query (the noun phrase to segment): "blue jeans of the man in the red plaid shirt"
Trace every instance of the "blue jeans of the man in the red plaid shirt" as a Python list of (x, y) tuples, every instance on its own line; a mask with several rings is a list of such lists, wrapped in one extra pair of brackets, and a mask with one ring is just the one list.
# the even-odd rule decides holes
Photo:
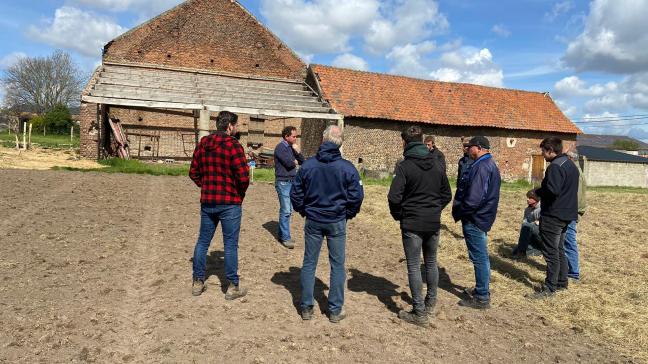
[(225, 277), (238, 286), (238, 238), (241, 230), (241, 205), (200, 205), (200, 234), (194, 249), (193, 279), (205, 280), (207, 251), (220, 221), (225, 250)]

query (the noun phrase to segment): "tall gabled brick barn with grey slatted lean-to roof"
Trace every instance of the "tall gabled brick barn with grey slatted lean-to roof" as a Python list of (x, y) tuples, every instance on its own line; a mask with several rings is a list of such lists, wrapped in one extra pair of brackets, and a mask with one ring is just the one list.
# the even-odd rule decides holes
[(81, 97), (81, 155), (115, 155), (111, 130), (119, 124), (133, 158), (190, 159), (221, 110), (239, 115), (243, 145), (274, 148), (281, 129), (294, 125), (304, 145), (316, 146), (321, 134), (303, 130), (304, 120), (326, 125), (340, 116), (306, 74), (236, 1), (186, 1), (105, 45)]

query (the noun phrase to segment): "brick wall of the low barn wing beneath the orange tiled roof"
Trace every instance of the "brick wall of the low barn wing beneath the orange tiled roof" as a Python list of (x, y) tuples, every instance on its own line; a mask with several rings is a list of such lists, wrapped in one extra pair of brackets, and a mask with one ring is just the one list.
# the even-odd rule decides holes
[[(369, 174), (384, 175), (380, 171), (392, 172), (396, 162), (402, 158), (401, 131), (410, 123), (345, 118), (344, 157), (358, 169)], [(486, 136), (491, 143), (502, 178), (505, 180), (528, 179), (531, 173), (531, 156), (540, 154), (542, 139), (551, 134), (533, 131), (515, 131), (494, 128), (448, 127), (418, 124), (426, 135), (435, 137), (435, 144), (446, 156), (448, 176), (457, 175), (457, 161), (462, 156), (462, 136)], [(576, 135), (556, 135), (565, 141), (566, 148), (575, 148)], [(362, 158), (362, 164), (359, 163)]]

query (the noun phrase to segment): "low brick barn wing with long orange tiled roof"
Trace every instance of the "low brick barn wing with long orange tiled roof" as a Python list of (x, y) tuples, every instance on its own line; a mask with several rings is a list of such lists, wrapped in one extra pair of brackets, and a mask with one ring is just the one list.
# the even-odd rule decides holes
[[(317, 89), (344, 115), (344, 155), (369, 174), (392, 171), (402, 155), (400, 132), (415, 123), (445, 154), (456, 176), (461, 137), (485, 135), (506, 180), (542, 179), (542, 139), (575, 148), (581, 131), (548, 93), (421, 80), (322, 65), (309, 68)], [(362, 163), (360, 163), (362, 161)]]

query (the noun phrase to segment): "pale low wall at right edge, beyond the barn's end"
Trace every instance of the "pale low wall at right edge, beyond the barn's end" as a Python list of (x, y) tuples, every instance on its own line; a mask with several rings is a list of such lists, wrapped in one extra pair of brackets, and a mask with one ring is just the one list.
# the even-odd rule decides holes
[(648, 163), (586, 161), (583, 169), (588, 186), (648, 188)]

